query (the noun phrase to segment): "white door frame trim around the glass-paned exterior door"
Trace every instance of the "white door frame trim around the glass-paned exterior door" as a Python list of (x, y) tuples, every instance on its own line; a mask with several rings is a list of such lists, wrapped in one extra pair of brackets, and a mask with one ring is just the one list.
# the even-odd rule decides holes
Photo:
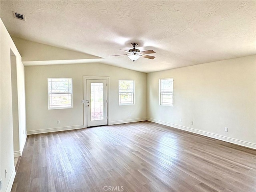
[[(87, 94), (86, 94), (86, 91), (87, 91), (87, 83), (86, 81), (88, 79), (92, 79), (92, 80), (107, 80), (107, 122), (108, 122), (108, 125), (110, 124), (110, 121), (109, 121), (109, 107), (108, 107), (108, 99), (109, 99), (109, 80), (110, 80), (110, 77), (107, 77), (107, 76), (83, 76), (83, 89), (84, 89), (84, 96), (83, 96), (83, 100), (86, 101), (88, 100), (87, 99)], [(87, 113), (88, 113), (88, 110), (87, 110), (87, 107), (86, 107), (86, 102), (83, 103), (84, 104), (84, 128), (87, 128)]]

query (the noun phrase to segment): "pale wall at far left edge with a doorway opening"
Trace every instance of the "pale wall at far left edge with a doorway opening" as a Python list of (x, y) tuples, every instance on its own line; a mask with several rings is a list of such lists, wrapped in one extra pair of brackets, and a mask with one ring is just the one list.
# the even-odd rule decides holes
[[(24, 134), (19, 136), (20, 145), (24, 146), (26, 140), (25, 124), (25, 90), (24, 90), (24, 66), (21, 56), (8, 34), (2, 20), (0, 20), (0, 179), (2, 178), (2, 191), (10, 190), (15, 176), (14, 170), (14, 140), (12, 125), (12, 82), (11, 82), (11, 51), (16, 55), (17, 68), (17, 97), (18, 99), (18, 123), (19, 131)], [(22, 70), (23, 69), (23, 70)], [(16, 130), (17, 132), (17, 130)], [(21, 143), (23, 142), (23, 143)], [(17, 149), (18, 149), (17, 148)], [(5, 170), (7, 172), (5, 178)]]

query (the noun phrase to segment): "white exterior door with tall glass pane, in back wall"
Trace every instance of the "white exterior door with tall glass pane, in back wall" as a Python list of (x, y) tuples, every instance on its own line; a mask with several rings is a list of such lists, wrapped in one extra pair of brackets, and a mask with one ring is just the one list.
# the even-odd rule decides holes
[(87, 126), (107, 125), (107, 80), (86, 80)]

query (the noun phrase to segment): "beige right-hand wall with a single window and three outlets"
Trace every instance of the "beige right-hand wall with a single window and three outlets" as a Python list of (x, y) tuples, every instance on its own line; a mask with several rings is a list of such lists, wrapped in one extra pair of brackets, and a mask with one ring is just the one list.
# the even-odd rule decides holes
[[(159, 105), (160, 78), (174, 78), (173, 107)], [(255, 89), (255, 55), (149, 73), (148, 118), (255, 147)], [(224, 132), (225, 127), (228, 132)]]

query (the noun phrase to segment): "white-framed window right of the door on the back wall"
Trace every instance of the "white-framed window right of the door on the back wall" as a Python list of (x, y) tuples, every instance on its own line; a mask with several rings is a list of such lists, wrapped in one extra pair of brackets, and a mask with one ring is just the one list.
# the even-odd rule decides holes
[(134, 80), (119, 80), (119, 105), (134, 104)]

